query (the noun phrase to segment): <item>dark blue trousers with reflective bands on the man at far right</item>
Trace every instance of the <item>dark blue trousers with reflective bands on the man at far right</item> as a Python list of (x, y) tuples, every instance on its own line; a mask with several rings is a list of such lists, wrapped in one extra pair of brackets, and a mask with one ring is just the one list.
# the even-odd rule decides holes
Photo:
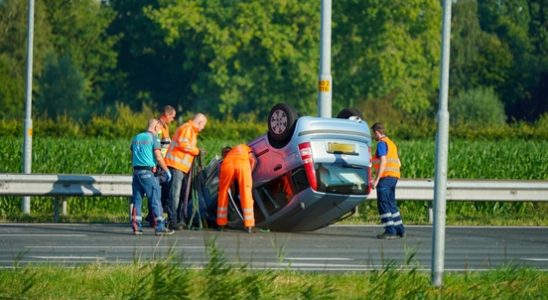
[(398, 179), (395, 177), (382, 177), (377, 185), (377, 208), (381, 217), (381, 223), (384, 226), (384, 232), (387, 234), (405, 233), (403, 222), (400, 215), (398, 204), (396, 203), (396, 184)]

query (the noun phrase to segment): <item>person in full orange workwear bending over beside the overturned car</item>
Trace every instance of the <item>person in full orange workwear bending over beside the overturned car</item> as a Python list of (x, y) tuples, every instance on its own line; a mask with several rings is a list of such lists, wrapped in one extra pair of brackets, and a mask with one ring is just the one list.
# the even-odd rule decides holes
[(240, 192), (240, 203), (244, 217), (244, 226), (251, 233), (255, 227), (253, 215), (253, 181), (251, 172), (255, 167), (253, 150), (244, 144), (231, 149), (223, 149), (223, 162), (219, 171), (219, 196), (217, 198), (217, 225), (225, 228), (228, 223), (228, 189), (237, 181)]

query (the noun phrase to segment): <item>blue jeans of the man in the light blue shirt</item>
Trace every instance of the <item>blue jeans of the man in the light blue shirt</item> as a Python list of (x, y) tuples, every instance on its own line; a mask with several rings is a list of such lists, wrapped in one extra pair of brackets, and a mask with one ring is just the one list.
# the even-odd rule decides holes
[(164, 218), (162, 214), (162, 203), (160, 202), (160, 184), (151, 170), (135, 170), (133, 171), (133, 181), (131, 183), (132, 196), (131, 203), (133, 209), (131, 211), (131, 227), (134, 231), (142, 229), (142, 206), (143, 197), (146, 195), (151, 204), (152, 216), (154, 218), (154, 227), (156, 231), (164, 230)]

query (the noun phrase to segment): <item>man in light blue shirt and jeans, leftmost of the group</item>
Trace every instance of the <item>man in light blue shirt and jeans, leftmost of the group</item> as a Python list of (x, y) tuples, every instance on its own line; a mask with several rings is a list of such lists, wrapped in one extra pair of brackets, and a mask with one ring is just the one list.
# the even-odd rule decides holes
[(166, 171), (168, 181), (171, 180), (171, 173), (162, 158), (161, 144), (157, 138), (158, 130), (160, 130), (158, 120), (150, 119), (148, 130), (135, 135), (131, 140), (131, 166), (133, 167), (131, 227), (135, 235), (143, 234), (142, 205), (145, 195), (151, 203), (156, 235), (174, 233), (165, 227), (162, 203), (160, 202), (161, 188), (158, 178), (154, 176), (153, 172), (156, 165), (159, 165)]

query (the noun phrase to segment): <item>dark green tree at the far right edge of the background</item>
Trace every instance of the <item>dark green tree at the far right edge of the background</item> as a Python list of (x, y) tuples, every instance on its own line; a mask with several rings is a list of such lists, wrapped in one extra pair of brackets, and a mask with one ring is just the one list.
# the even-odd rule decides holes
[(546, 94), (535, 91), (546, 86), (546, 26), (542, 25), (548, 3), (486, 0), (478, 4), (482, 29), (495, 34), (512, 55), (507, 79), (496, 86), (506, 113), (512, 119), (533, 120), (547, 108)]

